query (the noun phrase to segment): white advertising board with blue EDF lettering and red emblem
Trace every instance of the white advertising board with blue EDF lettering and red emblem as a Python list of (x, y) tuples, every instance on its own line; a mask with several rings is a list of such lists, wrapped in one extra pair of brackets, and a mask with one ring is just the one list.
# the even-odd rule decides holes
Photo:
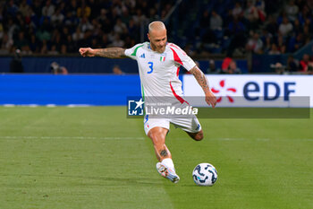
[[(313, 107), (313, 76), (310, 75), (215, 75), (207, 74), (217, 107), (309, 108)], [(186, 97), (203, 97), (193, 75), (183, 75)], [(206, 107), (204, 100), (189, 100)]]

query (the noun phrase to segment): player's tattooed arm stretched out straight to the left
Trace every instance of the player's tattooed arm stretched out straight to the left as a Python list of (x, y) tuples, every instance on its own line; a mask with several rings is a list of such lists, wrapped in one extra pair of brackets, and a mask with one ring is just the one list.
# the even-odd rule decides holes
[(126, 58), (125, 48), (80, 48), (82, 57)]

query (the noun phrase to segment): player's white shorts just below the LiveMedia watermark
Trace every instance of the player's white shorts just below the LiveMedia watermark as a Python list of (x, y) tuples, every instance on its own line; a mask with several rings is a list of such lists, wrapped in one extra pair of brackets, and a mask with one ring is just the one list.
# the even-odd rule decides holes
[(201, 130), (201, 125), (196, 116), (192, 118), (148, 118), (146, 115), (143, 122), (146, 135), (153, 127), (164, 127), (170, 130), (170, 123), (189, 133), (197, 133)]

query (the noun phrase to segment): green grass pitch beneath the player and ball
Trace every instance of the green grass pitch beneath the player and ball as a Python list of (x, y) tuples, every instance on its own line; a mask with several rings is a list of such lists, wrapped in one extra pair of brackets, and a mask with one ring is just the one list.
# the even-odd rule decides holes
[[(195, 142), (171, 126), (181, 177), (157, 174), (142, 119), (125, 107), (0, 107), (0, 208), (313, 208), (313, 119), (200, 119)], [(198, 187), (200, 162), (216, 166)]]

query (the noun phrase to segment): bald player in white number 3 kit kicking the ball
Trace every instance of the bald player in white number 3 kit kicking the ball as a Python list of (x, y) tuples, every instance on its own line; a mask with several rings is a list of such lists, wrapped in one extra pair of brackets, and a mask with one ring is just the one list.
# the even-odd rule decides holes
[[(132, 48), (80, 48), (82, 57), (131, 57), (138, 62), (142, 94), (148, 97), (167, 97), (189, 105), (182, 99), (182, 82), (178, 78), (182, 65), (193, 74), (202, 87), (208, 105), (216, 106), (216, 97), (210, 91), (205, 74), (186, 53), (174, 45), (167, 43), (166, 28), (163, 22), (151, 22), (148, 25), (149, 42), (135, 45)], [(146, 102), (146, 100), (145, 100)], [(157, 155), (157, 171), (166, 179), (177, 183), (180, 178), (176, 174), (171, 152), (165, 145), (170, 123), (180, 127), (196, 141), (203, 139), (203, 131), (196, 116), (190, 118), (149, 118), (144, 119), (145, 132), (151, 138)]]

